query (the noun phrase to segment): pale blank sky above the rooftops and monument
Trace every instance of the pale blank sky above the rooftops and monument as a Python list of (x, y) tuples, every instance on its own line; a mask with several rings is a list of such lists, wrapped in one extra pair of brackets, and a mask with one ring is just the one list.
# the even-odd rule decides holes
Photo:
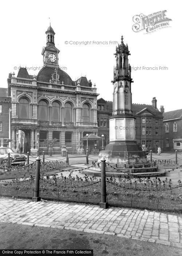
[[(3, 3), (3, 4), (2, 4)], [(27, 67), (29, 74), (37, 75), (43, 65), (41, 49), (46, 46), (45, 31), (55, 31), (55, 46), (59, 44), (59, 66), (72, 80), (87, 76), (96, 84), (98, 98), (112, 101), (113, 66), (116, 44), (123, 35), (131, 56), (132, 102), (151, 104), (157, 98), (157, 107), (165, 112), (182, 109), (181, 89), (181, 8), (178, 1), (1, 1), (1, 82), (7, 87), (9, 72), (14, 67)], [(167, 10), (170, 27), (154, 33), (134, 32), (134, 15), (150, 15)], [(68, 41), (68, 44), (65, 44)], [(71, 42), (70, 42), (71, 41)], [(91, 41), (88, 45), (73, 42)], [(93, 44), (107, 42), (107, 44)], [(143, 70), (153, 67), (158, 70)], [(159, 67), (167, 67), (159, 70)], [(33, 71), (31, 68), (36, 68)]]

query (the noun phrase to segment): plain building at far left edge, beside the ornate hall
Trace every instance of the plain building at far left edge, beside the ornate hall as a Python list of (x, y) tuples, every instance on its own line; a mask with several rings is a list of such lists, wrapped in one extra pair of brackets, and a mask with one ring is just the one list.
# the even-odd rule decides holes
[(7, 88), (0, 88), (0, 145), (7, 147), (9, 138), (9, 109), (11, 97), (8, 96)]

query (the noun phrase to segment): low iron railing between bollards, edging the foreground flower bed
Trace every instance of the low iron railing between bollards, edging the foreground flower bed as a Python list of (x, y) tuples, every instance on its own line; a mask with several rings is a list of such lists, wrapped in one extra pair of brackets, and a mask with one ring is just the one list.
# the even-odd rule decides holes
[[(31, 199), (33, 197), (33, 188), (13, 188), (7, 186), (0, 187), (0, 196)], [(40, 197), (44, 200), (56, 202), (72, 202), (95, 204), (100, 203), (100, 192), (77, 191), (52, 188), (40, 189)], [(154, 211), (167, 211), (182, 213), (182, 200), (172, 199), (160, 196), (135, 195), (130, 193), (107, 193), (107, 202), (113, 207), (139, 208)]]

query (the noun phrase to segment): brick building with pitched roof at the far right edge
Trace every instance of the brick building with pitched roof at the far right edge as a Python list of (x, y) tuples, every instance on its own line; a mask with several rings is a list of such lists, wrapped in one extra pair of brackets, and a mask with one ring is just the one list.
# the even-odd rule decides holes
[(182, 150), (182, 109), (164, 113), (163, 150)]

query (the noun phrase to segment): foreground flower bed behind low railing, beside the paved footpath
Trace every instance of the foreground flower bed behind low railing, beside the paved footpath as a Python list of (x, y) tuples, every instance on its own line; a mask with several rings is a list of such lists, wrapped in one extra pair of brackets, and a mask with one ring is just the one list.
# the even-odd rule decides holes
[[(33, 196), (32, 191), (35, 180), (31, 176), (29, 180), (19, 179), (7, 182), (1, 187), (0, 195), (27, 198)], [(46, 200), (56, 200), (76, 203), (99, 204), (101, 182), (95, 177), (85, 175), (84, 178), (72, 176), (49, 175), (40, 177), (40, 197)], [(107, 199), (110, 206), (146, 208), (150, 210), (182, 212), (182, 183), (173, 185), (171, 180), (161, 181), (159, 178), (135, 179), (115, 178), (106, 180)]]

